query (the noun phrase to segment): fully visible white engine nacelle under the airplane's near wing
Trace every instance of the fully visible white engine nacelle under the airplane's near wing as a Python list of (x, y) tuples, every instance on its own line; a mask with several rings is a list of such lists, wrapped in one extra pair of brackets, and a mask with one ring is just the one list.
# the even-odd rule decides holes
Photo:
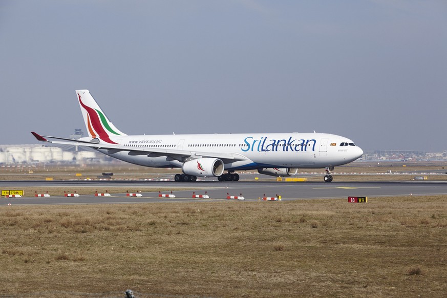
[(191, 176), (218, 177), (223, 174), (224, 164), (217, 158), (199, 158), (183, 163), (182, 171)]

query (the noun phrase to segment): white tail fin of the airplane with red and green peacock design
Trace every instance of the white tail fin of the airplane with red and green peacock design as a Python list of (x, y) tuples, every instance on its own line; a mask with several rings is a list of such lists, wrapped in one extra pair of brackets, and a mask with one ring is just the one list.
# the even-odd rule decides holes
[(116, 144), (111, 137), (126, 136), (119, 131), (115, 125), (109, 120), (98, 103), (95, 101), (89, 90), (76, 90), (76, 95), (81, 107), (82, 116), (86, 123), (87, 132), (93, 139)]

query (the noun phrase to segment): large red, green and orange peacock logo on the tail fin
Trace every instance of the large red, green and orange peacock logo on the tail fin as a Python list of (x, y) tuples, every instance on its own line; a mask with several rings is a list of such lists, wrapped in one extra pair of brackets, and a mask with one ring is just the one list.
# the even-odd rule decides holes
[(96, 135), (98, 134), (101, 140), (108, 142), (110, 144), (117, 144), (109, 138), (109, 134), (104, 130), (105, 127), (105, 129), (107, 129), (109, 133), (120, 136), (120, 134), (115, 132), (112, 129), (112, 127), (110, 127), (107, 118), (105, 118), (105, 115), (101, 111), (92, 109), (88, 107), (86, 104), (84, 104), (79, 94), (78, 97), (82, 108), (86, 109), (87, 111), (87, 126), (90, 135), (93, 138), (96, 138)]

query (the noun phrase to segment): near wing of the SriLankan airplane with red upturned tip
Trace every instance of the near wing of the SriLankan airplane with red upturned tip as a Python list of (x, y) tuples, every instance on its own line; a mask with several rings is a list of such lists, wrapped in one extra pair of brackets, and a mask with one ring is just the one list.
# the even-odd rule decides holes
[[(102, 144), (93, 141), (80, 141), (70, 138), (60, 138), (52, 136), (41, 136), (35, 132), (31, 132), (33, 136), (41, 142), (59, 144), (59, 145), (72, 145), (72, 146), (86, 146), (95, 149), (107, 149), (114, 152), (128, 151), (130, 155), (147, 155), (149, 157), (158, 156), (169, 156), (173, 159), (184, 161), (185, 158), (201, 158), (201, 157), (214, 157), (221, 160), (236, 161), (236, 160), (247, 160), (247, 158), (241, 154), (237, 153), (211, 153), (211, 152), (198, 152), (198, 151), (187, 151), (187, 150), (175, 150), (175, 149), (163, 149), (163, 148), (146, 148), (138, 147), (138, 149), (130, 148), (120, 144)], [(55, 139), (52, 141), (49, 139)], [(59, 141), (60, 140), (60, 141)]]

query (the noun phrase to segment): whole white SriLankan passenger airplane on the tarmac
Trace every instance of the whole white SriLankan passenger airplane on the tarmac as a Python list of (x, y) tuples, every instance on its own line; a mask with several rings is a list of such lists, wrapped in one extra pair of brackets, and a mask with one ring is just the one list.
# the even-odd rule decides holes
[[(113, 158), (147, 167), (181, 168), (176, 182), (197, 177), (238, 181), (236, 171), (286, 177), (299, 168), (325, 168), (331, 182), (334, 166), (350, 163), (363, 150), (348, 138), (326, 133), (126, 135), (105, 115), (89, 90), (76, 90), (88, 137), (41, 136), (38, 141), (87, 146)], [(52, 140), (49, 140), (52, 139)], [(224, 173), (226, 172), (226, 173)]]

